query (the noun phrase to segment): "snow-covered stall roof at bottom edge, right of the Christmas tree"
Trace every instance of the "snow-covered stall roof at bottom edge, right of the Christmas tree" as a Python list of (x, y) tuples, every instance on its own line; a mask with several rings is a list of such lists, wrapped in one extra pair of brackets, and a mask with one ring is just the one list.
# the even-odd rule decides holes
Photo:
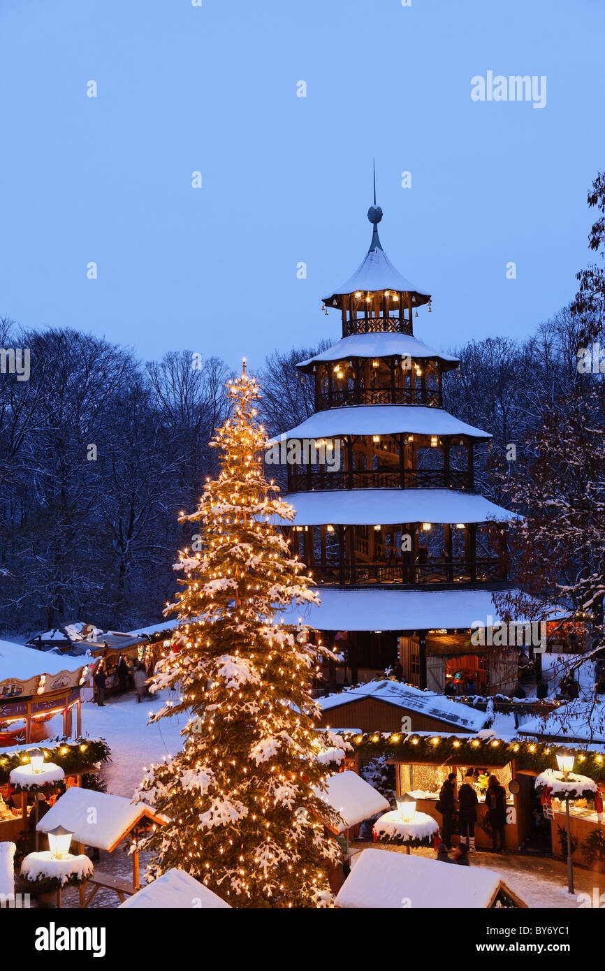
[(336, 897), (337, 907), (487, 908), (498, 890), (515, 898), (499, 873), (476, 866), (452, 866), (436, 859), (390, 850), (363, 850)]

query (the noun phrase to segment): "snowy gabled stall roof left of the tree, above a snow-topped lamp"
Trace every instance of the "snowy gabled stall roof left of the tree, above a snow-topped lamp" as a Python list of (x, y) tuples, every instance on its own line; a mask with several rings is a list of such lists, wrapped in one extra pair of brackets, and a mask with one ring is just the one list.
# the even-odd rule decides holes
[(48, 833), (55, 826), (64, 826), (74, 834), (76, 843), (111, 853), (144, 817), (158, 824), (164, 821), (144, 802), (132, 803), (121, 795), (73, 786), (56, 800), (36, 829)]

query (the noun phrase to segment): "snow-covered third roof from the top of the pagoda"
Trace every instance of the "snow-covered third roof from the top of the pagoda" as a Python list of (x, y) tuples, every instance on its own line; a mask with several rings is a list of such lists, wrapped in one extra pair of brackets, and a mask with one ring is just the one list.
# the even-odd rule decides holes
[[(334, 438), (338, 435), (468, 435), (487, 441), (491, 435), (428, 405), (350, 405), (317, 412), (284, 433), (287, 438)], [(279, 442), (280, 436), (272, 439)]]

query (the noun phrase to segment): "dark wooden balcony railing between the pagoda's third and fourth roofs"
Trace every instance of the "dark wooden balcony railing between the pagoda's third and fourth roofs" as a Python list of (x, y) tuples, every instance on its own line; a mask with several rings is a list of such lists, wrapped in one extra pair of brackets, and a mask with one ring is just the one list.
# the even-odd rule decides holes
[(289, 472), (287, 489), (289, 492), (311, 492), (324, 489), (352, 488), (453, 488), (458, 491), (471, 491), (473, 476), (465, 470), (450, 469), (449, 476), (444, 469), (406, 469), (403, 484), (399, 471), (391, 469), (353, 469), (348, 472), (321, 471), (314, 467), (305, 472)]

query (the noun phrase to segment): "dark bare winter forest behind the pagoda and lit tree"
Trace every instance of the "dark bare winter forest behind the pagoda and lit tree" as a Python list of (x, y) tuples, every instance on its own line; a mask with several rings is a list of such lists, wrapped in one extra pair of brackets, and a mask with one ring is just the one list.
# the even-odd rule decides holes
[[(604, 380), (578, 373), (578, 319), (564, 308), (526, 340), (449, 349), (460, 366), (445, 378), (444, 404), (491, 432), (475, 469), (477, 488), (494, 502), (506, 504), (503, 463), (516, 474), (510, 446), (521, 457), (532, 429)], [(8, 320), (0, 321), (0, 348), (30, 351), (29, 380), (8, 366), (0, 374), (2, 632), (60, 619), (115, 630), (157, 622), (174, 593), (176, 552), (191, 544), (178, 513), (195, 507), (216, 472), (208, 442), (228, 414), (227, 365), (187, 351), (142, 364), (90, 334), (21, 331)], [(273, 352), (259, 370), (271, 434), (312, 414), (313, 383), (295, 364), (318, 350)]]

